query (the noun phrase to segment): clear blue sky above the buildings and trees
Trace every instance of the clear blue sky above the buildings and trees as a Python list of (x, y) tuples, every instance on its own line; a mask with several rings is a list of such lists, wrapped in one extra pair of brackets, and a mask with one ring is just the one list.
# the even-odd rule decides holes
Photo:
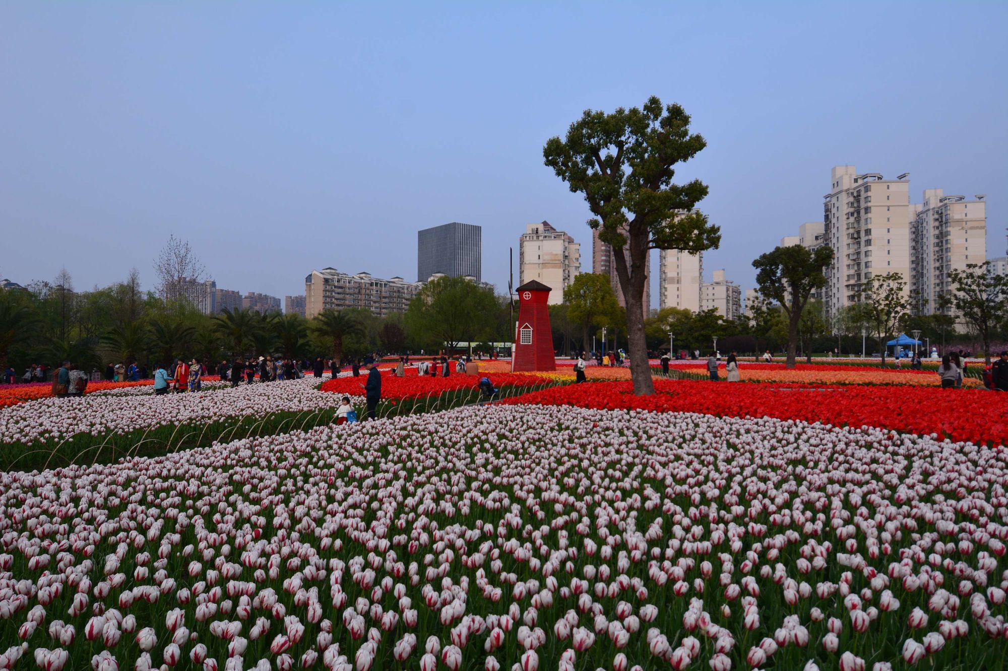
[(650, 95), (709, 143), (678, 173), (724, 232), (708, 274), (752, 286), (843, 163), (987, 193), (1000, 256), (1006, 25), (1005, 2), (2, 2), (0, 277), (149, 287), (174, 233), (218, 286), (283, 296), (325, 266), (416, 279), (416, 230), (452, 221), (499, 288), (530, 222), (591, 270), (542, 145)]

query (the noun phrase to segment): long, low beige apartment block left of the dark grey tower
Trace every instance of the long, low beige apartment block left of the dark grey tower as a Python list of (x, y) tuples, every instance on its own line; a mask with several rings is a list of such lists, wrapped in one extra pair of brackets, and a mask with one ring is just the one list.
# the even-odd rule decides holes
[(379, 279), (371, 273), (349, 275), (336, 268), (312, 270), (304, 278), (304, 316), (313, 317), (323, 310), (361, 307), (378, 316), (405, 312), (409, 301), (423, 286), (401, 277)]

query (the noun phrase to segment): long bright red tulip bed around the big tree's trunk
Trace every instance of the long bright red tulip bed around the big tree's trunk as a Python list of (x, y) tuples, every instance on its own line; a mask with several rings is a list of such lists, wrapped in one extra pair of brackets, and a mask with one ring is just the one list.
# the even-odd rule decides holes
[(1008, 394), (935, 387), (850, 387), (729, 384), (655, 380), (657, 393), (634, 396), (630, 382), (545, 389), (505, 403), (586, 408), (699, 412), (730, 417), (776, 417), (839, 426), (877, 426), (954, 440), (1008, 442)]

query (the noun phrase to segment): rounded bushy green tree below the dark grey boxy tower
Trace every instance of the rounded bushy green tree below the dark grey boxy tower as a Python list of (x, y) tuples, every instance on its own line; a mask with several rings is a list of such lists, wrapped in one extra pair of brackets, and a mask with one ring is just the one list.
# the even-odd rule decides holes
[(465, 277), (437, 277), (410, 301), (404, 322), (415, 342), (453, 350), (492, 338), (497, 311), (493, 289)]

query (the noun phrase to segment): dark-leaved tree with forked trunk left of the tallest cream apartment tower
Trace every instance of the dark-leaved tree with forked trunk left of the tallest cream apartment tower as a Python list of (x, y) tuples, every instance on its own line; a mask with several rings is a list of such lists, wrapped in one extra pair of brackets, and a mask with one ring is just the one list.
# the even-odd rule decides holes
[(756, 285), (764, 299), (776, 301), (787, 314), (787, 368), (794, 368), (798, 322), (815, 289), (826, 286), (824, 270), (833, 261), (833, 248), (814, 252), (801, 245), (777, 247), (753, 261)]

